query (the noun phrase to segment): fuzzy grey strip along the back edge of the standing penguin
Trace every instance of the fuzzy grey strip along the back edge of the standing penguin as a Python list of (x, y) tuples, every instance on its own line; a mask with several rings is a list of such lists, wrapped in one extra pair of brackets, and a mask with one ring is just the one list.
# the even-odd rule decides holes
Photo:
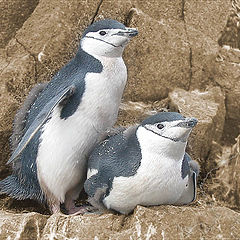
[(28, 111), (31, 105), (35, 102), (38, 95), (43, 91), (43, 89), (45, 89), (47, 84), (48, 84), (47, 82), (36, 84), (29, 92), (21, 108), (17, 111), (15, 118), (13, 120), (13, 133), (12, 136), (10, 137), (12, 151), (14, 151), (17, 148), (19, 142), (23, 137), (25, 121), (27, 119)]

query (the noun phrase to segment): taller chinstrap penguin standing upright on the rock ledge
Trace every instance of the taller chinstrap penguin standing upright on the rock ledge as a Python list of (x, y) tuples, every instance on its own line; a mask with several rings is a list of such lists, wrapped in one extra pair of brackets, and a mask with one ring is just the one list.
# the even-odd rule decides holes
[(127, 80), (122, 53), (138, 31), (105, 19), (83, 33), (75, 57), (38, 84), (16, 114), (11, 176), (0, 193), (47, 203), (51, 212), (74, 201), (86, 179), (87, 156), (117, 118)]

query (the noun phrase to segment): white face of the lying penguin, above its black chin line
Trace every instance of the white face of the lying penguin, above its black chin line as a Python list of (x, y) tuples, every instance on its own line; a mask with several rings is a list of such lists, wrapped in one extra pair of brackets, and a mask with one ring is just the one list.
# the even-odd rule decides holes
[(154, 125), (147, 124), (144, 127), (151, 131), (153, 134), (159, 135), (161, 137), (170, 139), (174, 142), (183, 142), (185, 143), (188, 139), (188, 136), (192, 130), (189, 124), (189, 119), (177, 120), (172, 122), (161, 122)]

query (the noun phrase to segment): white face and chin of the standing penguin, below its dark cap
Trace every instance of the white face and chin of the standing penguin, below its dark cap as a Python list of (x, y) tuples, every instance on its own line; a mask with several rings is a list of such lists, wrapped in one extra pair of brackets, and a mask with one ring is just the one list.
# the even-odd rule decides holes
[(89, 32), (81, 40), (82, 49), (96, 56), (121, 57), (125, 46), (136, 29), (101, 29), (98, 32)]

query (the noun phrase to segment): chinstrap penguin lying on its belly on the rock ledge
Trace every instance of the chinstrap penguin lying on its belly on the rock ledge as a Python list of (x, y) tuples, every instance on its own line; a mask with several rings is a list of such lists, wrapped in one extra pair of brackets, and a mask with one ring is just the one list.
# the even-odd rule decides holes
[(199, 165), (185, 149), (196, 124), (196, 118), (161, 112), (103, 141), (88, 162), (89, 203), (129, 214), (137, 205), (193, 202)]

